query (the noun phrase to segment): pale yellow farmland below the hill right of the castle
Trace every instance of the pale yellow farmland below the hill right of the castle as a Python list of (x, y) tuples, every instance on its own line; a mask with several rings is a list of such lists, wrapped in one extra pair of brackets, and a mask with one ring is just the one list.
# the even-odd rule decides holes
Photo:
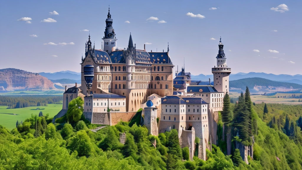
[[(240, 96), (240, 93), (236, 93), (236, 92), (230, 93), (230, 97), (235, 98), (238, 96)], [(290, 104), (290, 105), (302, 105), (302, 102), (298, 102), (299, 99), (277, 98), (276, 96), (251, 95), (251, 100), (256, 104), (264, 102), (264, 103), (283, 103), (283, 104)]]

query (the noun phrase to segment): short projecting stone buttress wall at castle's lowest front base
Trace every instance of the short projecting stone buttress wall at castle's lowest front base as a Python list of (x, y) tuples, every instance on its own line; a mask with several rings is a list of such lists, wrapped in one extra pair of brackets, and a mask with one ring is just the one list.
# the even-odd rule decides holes
[(182, 148), (189, 148), (190, 159), (193, 160), (194, 151), (195, 151), (195, 130), (192, 127), (192, 130), (183, 130), (182, 135), (179, 139), (179, 144)]

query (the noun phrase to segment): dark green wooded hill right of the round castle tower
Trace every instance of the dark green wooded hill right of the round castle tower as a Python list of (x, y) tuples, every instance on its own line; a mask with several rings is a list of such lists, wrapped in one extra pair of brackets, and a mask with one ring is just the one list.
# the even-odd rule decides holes
[(246, 86), (249, 87), (251, 93), (267, 93), (302, 89), (302, 85), (300, 84), (272, 81), (259, 77), (230, 81), (230, 91), (241, 92), (246, 89)]

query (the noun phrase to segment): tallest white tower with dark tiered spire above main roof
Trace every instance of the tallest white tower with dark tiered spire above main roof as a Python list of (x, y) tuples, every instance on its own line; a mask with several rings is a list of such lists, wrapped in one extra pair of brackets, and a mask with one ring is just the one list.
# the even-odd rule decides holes
[(102, 38), (102, 40), (104, 40), (104, 51), (106, 51), (108, 54), (110, 54), (112, 52), (112, 48), (116, 47), (116, 41), (117, 39), (115, 38), (115, 33), (114, 33), (114, 29), (112, 27), (112, 18), (110, 15), (110, 8), (108, 9), (108, 15), (107, 15), (107, 19), (106, 19), (106, 28), (104, 31), (104, 38)]

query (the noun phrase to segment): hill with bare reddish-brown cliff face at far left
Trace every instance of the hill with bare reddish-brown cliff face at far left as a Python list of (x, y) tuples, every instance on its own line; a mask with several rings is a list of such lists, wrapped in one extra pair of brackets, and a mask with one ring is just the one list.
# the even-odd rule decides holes
[(14, 90), (53, 90), (54, 84), (38, 73), (15, 68), (0, 69), (0, 92)]

